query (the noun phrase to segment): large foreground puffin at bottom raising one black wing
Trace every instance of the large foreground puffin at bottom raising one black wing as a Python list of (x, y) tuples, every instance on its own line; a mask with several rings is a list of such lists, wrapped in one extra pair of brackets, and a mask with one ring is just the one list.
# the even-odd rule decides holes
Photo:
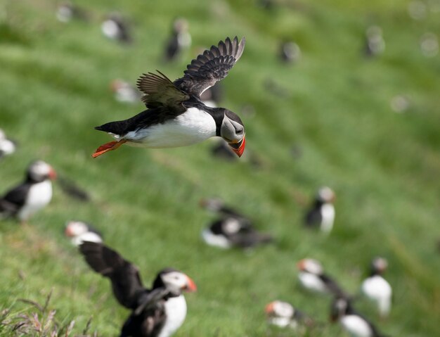
[(168, 337), (183, 324), (183, 291), (196, 291), (192, 279), (176, 269), (162, 269), (153, 287), (143, 286), (138, 268), (101, 243), (84, 242), (79, 250), (91, 269), (108, 277), (119, 304), (131, 310), (120, 337)]

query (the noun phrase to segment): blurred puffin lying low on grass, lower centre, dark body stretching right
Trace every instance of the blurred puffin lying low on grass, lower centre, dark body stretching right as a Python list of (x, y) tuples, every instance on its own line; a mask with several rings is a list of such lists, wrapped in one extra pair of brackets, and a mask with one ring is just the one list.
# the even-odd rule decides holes
[(270, 243), (272, 236), (259, 233), (250, 222), (237, 217), (223, 217), (202, 231), (202, 239), (209, 246), (220, 248), (252, 248)]

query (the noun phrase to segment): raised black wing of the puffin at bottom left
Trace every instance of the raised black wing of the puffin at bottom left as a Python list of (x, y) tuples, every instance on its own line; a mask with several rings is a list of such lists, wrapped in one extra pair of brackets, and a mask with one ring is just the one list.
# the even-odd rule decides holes
[(101, 243), (84, 242), (79, 250), (91, 269), (112, 281), (113, 293), (118, 302), (135, 310), (139, 297), (147, 292), (142, 286), (138, 268)]

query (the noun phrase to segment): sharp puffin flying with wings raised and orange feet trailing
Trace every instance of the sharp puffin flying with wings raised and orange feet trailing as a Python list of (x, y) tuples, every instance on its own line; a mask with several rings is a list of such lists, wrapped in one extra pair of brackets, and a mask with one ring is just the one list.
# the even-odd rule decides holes
[(240, 117), (225, 108), (209, 108), (200, 101), (207, 88), (228, 75), (245, 48), (226, 38), (191, 61), (183, 77), (171, 82), (162, 72), (149, 72), (138, 79), (147, 110), (119, 122), (95, 129), (110, 133), (116, 141), (100, 146), (92, 157), (115, 150), (124, 143), (147, 148), (195, 144), (213, 136), (225, 139), (240, 157), (245, 150), (245, 127)]

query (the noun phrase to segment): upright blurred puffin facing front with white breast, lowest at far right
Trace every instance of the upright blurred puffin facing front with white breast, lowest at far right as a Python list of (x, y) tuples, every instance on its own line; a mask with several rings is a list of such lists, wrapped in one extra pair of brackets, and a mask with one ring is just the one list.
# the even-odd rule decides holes
[(382, 277), (382, 273), (387, 267), (388, 262), (386, 259), (375, 257), (371, 262), (370, 276), (362, 282), (361, 286), (362, 293), (377, 305), (382, 318), (388, 316), (392, 303), (392, 287)]

